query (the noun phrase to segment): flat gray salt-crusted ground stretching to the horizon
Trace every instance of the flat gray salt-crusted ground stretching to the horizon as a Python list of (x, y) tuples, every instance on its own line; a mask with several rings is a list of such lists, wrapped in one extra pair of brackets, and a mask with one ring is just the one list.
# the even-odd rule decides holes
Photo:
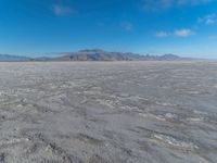
[(0, 162), (216, 163), (217, 63), (0, 63)]

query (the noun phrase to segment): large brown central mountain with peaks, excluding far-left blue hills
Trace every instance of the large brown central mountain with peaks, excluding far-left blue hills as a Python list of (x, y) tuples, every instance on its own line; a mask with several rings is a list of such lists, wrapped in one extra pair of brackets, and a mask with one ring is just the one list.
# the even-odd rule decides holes
[(101, 49), (87, 49), (78, 52), (61, 53), (61, 57), (52, 59), (53, 61), (162, 61), (162, 60), (181, 60), (174, 54), (141, 55), (131, 52), (106, 52)]

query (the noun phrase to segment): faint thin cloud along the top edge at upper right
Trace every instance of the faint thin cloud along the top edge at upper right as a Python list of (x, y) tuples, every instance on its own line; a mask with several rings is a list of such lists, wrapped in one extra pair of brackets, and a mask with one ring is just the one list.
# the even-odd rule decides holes
[(212, 2), (213, 0), (142, 0), (145, 11), (158, 11), (159, 9), (170, 9), (186, 5), (200, 5)]

